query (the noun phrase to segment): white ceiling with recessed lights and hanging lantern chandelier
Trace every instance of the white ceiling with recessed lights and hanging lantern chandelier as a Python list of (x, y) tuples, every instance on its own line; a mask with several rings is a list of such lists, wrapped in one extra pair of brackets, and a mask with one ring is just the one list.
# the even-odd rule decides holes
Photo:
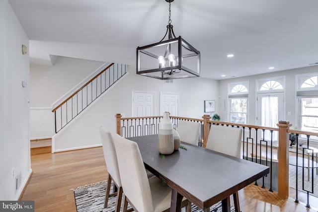
[[(54, 55), (136, 66), (136, 48), (161, 40), (168, 21), (165, 0), (8, 1), (30, 39), (31, 63), (44, 65)], [(201, 52), (202, 77), (318, 63), (318, 0), (174, 0), (171, 20)]]

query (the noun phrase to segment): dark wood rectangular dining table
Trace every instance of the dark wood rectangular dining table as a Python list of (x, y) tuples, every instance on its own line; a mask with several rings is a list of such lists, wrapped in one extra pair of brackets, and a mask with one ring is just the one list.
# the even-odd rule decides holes
[(268, 166), (184, 142), (187, 150), (161, 155), (158, 135), (128, 139), (137, 142), (145, 167), (171, 187), (170, 212), (181, 211), (183, 197), (204, 212), (222, 201), (222, 212), (230, 212), (230, 195), (269, 173)]

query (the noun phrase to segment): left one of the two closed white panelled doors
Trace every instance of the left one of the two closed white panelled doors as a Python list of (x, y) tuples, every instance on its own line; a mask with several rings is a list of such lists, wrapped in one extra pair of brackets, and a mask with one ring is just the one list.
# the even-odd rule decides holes
[(154, 93), (133, 92), (133, 117), (154, 116)]

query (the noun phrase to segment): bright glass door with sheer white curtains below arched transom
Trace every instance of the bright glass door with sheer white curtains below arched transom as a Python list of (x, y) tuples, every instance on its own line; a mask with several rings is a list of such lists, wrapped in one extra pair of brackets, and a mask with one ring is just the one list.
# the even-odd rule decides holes
[[(284, 120), (284, 93), (258, 93), (256, 124), (264, 127), (277, 128), (277, 123)], [(263, 136), (262, 136), (263, 137)], [(269, 131), (265, 131), (265, 140), (271, 140)], [(273, 133), (273, 141), (278, 141), (277, 132)]]

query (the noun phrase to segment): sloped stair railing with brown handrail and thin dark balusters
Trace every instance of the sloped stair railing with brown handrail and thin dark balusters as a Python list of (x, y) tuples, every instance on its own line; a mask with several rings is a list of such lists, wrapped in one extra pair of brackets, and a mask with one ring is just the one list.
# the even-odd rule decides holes
[(127, 65), (110, 64), (55, 107), (55, 133), (62, 130), (85, 108), (127, 73)]

